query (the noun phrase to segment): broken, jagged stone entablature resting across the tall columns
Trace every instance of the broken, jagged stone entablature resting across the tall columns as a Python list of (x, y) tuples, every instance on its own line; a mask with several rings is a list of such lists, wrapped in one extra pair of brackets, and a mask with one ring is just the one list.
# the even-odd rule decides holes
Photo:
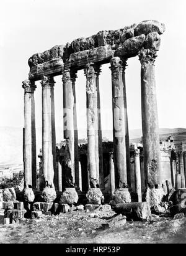
[(56, 45), (30, 57), (29, 78), (40, 80), (43, 75), (60, 75), (64, 69), (84, 69), (91, 62), (106, 64), (117, 56), (135, 57), (143, 49), (157, 51), (164, 31), (164, 24), (149, 20), (115, 31), (100, 31), (94, 36), (73, 40), (71, 44)]

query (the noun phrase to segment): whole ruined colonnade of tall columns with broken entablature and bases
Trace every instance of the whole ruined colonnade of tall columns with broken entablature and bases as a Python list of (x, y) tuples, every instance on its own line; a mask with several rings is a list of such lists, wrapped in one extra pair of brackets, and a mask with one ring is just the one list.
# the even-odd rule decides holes
[[(100, 122), (99, 75), (101, 65), (110, 62), (113, 106), (113, 151), (109, 157), (110, 205), (115, 211), (127, 213), (139, 208), (141, 212), (162, 203), (165, 186), (168, 197), (174, 189), (166, 183), (161, 169), (159, 128), (156, 102), (155, 60), (160, 47), (164, 24), (158, 21), (143, 21), (116, 31), (100, 31), (94, 36), (73, 40), (71, 44), (56, 45), (50, 50), (32, 55), (29, 59), (29, 79), (24, 88), (24, 191), (22, 202), (4, 200), (6, 217), (17, 212), (17, 219), (27, 211), (29, 217), (39, 217), (42, 212), (66, 212), (69, 206), (87, 202), (87, 209), (104, 202), (103, 148)], [(130, 146), (126, 105), (125, 69), (127, 59), (139, 57), (141, 62), (141, 113), (143, 128), (144, 199), (141, 194), (141, 169), (139, 149), (134, 152), (135, 181), (138, 202), (131, 203)], [(79, 150), (76, 111), (76, 78), (78, 70), (86, 76), (87, 107), (87, 191), (86, 197), (79, 189)], [(55, 136), (55, 76), (63, 81), (63, 130), (64, 161), (56, 168)], [(37, 187), (36, 140), (35, 140), (35, 81), (42, 85), (42, 179), (41, 192)], [(63, 181), (65, 180), (65, 182)], [(180, 189), (180, 174), (175, 183)], [(62, 183), (64, 186), (62, 187)], [(185, 184), (184, 184), (185, 187)], [(181, 191), (181, 192), (180, 192)], [(5, 193), (5, 192), (3, 192)], [(1, 193), (1, 194), (3, 194)], [(180, 200), (181, 197), (179, 197)], [(142, 201), (146, 202), (142, 202)], [(167, 199), (168, 201), (168, 199)], [(181, 200), (180, 200), (181, 201)], [(179, 201), (179, 202), (180, 202)], [(24, 208), (23, 209), (23, 202)], [(10, 206), (9, 206), (10, 204)], [(15, 206), (14, 206), (15, 204)], [(17, 208), (16, 208), (17, 207)], [(81, 205), (78, 206), (81, 208)], [(84, 207), (84, 206), (82, 206)], [(14, 209), (14, 210), (13, 210)], [(58, 210), (57, 210), (58, 209)], [(6, 218), (6, 219), (7, 219)], [(16, 218), (15, 218), (16, 219)]]

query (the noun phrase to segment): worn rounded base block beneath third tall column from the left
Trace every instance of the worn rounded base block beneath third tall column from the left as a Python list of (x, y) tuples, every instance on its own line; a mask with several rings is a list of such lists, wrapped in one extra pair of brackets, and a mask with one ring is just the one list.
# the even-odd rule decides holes
[(61, 195), (60, 203), (61, 204), (76, 204), (78, 202), (78, 193), (74, 187), (68, 187), (64, 190)]

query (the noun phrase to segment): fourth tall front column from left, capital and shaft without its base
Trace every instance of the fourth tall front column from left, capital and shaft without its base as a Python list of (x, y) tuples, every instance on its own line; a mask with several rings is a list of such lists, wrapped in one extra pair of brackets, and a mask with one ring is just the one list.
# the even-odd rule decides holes
[(96, 149), (96, 131), (97, 126), (97, 108), (95, 108), (95, 101), (97, 101), (97, 88), (95, 83), (95, 70), (92, 65), (87, 64), (84, 68), (86, 75), (86, 101), (87, 101), (87, 171), (89, 173), (89, 186), (98, 187), (99, 179), (97, 173), (97, 163), (99, 154)]

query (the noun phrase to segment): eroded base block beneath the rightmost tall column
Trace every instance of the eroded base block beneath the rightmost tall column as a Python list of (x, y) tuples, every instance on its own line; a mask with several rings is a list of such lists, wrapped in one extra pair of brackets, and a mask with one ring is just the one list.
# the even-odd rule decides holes
[(164, 198), (163, 189), (147, 189), (146, 191), (146, 202), (150, 207), (157, 206)]

